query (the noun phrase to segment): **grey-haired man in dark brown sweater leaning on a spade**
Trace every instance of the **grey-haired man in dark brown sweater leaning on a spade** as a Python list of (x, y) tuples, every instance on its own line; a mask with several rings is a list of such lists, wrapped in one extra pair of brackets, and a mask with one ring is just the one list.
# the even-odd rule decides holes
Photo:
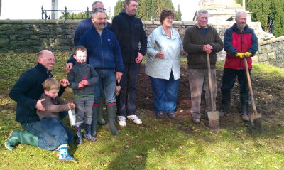
[(222, 51), (223, 42), (217, 31), (208, 25), (208, 11), (200, 9), (197, 12), (197, 25), (187, 28), (183, 39), (183, 49), (188, 53), (187, 65), (190, 71), (191, 115), (193, 122), (200, 122), (200, 103), (202, 87), (205, 90), (206, 113), (210, 111), (208, 87), (207, 53), (210, 55), (212, 73), (212, 93), (216, 110), (216, 60), (217, 52)]

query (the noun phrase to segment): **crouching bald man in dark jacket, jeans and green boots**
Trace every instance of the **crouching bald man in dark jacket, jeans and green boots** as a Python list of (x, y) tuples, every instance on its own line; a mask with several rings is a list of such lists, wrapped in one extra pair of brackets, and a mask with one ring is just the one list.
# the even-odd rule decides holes
[[(12, 150), (21, 143), (47, 150), (58, 149), (60, 161), (77, 162), (68, 153), (68, 144), (72, 144), (73, 140), (72, 132), (60, 122), (60, 119), (40, 120), (36, 114), (36, 110), (45, 111), (41, 103), (44, 99), (40, 99), (43, 94), (42, 83), (53, 77), (50, 72), (54, 64), (55, 58), (51, 51), (40, 51), (38, 64), (23, 73), (12, 87), (9, 97), (17, 102), (16, 121), (20, 122), (23, 129), (28, 132), (13, 130), (5, 142), (5, 147)], [(60, 80), (60, 85), (59, 96), (62, 95), (69, 82), (63, 79)]]

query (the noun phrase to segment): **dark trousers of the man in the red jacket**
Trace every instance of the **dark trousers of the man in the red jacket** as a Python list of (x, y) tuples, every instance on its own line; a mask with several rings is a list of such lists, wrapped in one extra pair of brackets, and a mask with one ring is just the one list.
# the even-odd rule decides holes
[[(249, 70), (250, 73), (251, 70)], [(239, 82), (239, 93), (245, 94), (249, 93), (249, 85), (248, 80), (246, 80), (246, 70), (233, 70), (229, 68), (224, 69), (223, 78), (222, 78), (222, 92), (229, 92), (234, 87), (234, 83), (236, 81), (236, 77), (238, 77)]]

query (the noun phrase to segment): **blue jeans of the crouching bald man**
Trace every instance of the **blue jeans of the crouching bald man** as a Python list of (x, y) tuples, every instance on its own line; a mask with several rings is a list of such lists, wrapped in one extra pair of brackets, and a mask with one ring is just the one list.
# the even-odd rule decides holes
[(72, 144), (73, 134), (60, 119), (48, 117), (40, 121), (22, 124), (23, 129), (38, 137), (38, 147), (46, 150), (58, 149), (60, 144)]

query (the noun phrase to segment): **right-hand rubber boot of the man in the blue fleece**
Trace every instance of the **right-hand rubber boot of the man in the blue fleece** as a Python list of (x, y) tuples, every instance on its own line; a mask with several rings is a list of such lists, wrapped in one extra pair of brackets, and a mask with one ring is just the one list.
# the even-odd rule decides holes
[(111, 134), (117, 135), (119, 134), (119, 130), (116, 129), (116, 105), (106, 105), (107, 109), (107, 119), (109, 121), (109, 130)]

